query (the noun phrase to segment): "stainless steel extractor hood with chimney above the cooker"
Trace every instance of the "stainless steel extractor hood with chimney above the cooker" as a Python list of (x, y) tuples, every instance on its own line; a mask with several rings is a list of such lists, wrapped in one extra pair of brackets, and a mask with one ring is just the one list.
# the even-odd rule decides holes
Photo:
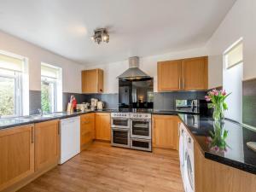
[(150, 76), (139, 69), (139, 57), (133, 56), (129, 58), (129, 69), (120, 74), (117, 79), (148, 79)]

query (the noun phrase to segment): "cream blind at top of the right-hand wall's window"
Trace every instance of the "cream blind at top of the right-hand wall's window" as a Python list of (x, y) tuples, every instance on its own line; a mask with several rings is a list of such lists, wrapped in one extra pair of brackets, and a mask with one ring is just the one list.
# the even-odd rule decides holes
[(242, 62), (242, 38), (240, 38), (235, 44), (230, 46), (224, 52), (224, 61), (227, 68), (234, 67)]

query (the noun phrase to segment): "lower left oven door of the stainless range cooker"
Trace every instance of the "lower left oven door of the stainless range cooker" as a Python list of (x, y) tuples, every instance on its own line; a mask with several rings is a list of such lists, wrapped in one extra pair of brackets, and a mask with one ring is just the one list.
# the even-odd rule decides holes
[(111, 145), (122, 148), (130, 148), (130, 130), (121, 128), (112, 128)]

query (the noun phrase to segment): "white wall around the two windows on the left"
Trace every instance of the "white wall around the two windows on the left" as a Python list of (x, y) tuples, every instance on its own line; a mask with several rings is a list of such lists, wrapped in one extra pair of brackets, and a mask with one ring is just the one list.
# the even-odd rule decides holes
[(52, 52), (30, 44), (20, 38), (0, 32), (0, 49), (16, 55), (22, 55), (29, 60), (29, 90), (41, 90), (41, 61), (62, 68), (63, 92), (81, 92), (82, 66), (74, 61), (55, 55)]

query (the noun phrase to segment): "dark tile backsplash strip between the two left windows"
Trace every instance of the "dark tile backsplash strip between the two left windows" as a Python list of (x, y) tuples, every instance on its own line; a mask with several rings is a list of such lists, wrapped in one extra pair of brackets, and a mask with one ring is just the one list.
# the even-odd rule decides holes
[(29, 90), (29, 114), (38, 113), (41, 108), (41, 90)]

